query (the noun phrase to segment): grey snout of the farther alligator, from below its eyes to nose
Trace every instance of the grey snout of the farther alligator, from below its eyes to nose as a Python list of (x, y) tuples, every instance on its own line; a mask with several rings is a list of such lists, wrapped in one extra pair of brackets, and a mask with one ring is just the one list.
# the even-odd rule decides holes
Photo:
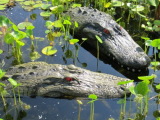
[[(150, 58), (131, 37), (117, 35), (112, 40), (105, 39), (100, 44), (100, 51), (107, 51), (106, 55), (116, 59), (122, 67), (132, 72), (141, 71), (150, 65)], [(113, 42), (114, 41), (114, 42)]]

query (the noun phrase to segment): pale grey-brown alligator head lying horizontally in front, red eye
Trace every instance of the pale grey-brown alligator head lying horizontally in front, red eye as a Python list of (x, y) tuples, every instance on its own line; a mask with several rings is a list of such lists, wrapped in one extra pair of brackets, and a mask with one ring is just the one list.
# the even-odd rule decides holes
[[(95, 94), (99, 98), (124, 97), (129, 95), (129, 87), (134, 83), (117, 85), (129, 79), (109, 74), (92, 72), (74, 65), (47, 64), (45, 62), (29, 62), (10, 67), (2, 78), (5, 89), (12, 91), (7, 80), (15, 79), (23, 96), (42, 97), (88, 97)], [(17, 89), (15, 89), (16, 92)]]

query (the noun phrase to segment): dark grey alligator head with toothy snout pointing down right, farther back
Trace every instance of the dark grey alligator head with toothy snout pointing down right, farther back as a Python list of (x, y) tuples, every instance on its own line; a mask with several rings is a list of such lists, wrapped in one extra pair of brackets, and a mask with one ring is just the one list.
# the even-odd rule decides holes
[(116, 60), (121, 67), (140, 72), (150, 65), (143, 49), (110, 15), (91, 7), (76, 7), (65, 11), (63, 16), (66, 19), (70, 16), (70, 29), (75, 37), (88, 38), (86, 42), (92, 47), (97, 47), (95, 36), (99, 36), (103, 41), (99, 44), (100, 53)]

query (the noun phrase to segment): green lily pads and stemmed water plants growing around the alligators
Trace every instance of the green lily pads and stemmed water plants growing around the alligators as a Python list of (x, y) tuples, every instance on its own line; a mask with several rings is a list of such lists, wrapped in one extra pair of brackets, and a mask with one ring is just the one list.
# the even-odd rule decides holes
[[(15, 3), (16, 2), (16, 3)], [(139, 41), (140, 43), (144, 42), (145, 40), (145, 52), (147, 53), (149, 51), (149, 48), (153, 49), (153, 62), (151, 63), (154, 67), (153, 69), (156, 71), (159, 67), (159, 59), (160, 59), (160, 39), (156, 38), (158, 36), (158, 32), (160, 32), (160, 16), (159, 13), (159, 0), (3, 0), (0, 1), (0, 10), (6, 10), (10, 9), (11, 7), (14, 7), (15, 4), (19, 4), (24, 10), (26, 11), (32, 11), (34, 9), (41, 9), (40, 16), (43, 17), (45, 22), (45, 27), (47, 27), (47, 30), (45, 31), (45, 34), (47, 35), (47, 45), (42, 48), (42, 53), (44, 55), (50, 56), (54, 55), (56, 52), (58, 52), (58, 49), (55, 46), (55, 39), (58, 39), (58, 43), (60, 46), (62, 46), (62, 51), (64, 52), (64, 55), (62, 57), (64, 63), (67, 63), (66, 59), (73, 59), (73, 63), (75, 63), (75, 59), (78, 60), (79, 63), (81, 63), (78, 59), (79, 49), (86, 38), (83, 38), (80, 42), (79, 39), (74, 38), (74, 30), (79, 27), (78, 23), (75, 21), (74, 24), (74, 30), (72, 32), (72, 36), (70, 35), (70, 17), (67, 16), (66, 18), (61, 16), (61, 13), (64, 10), (67, 10), (71, 7), (76, 6), (93, 6), (94, 8), (98, 8), (103, 12), (106, 12), (112, 16), (115, 15), (115, 19), (117, 19), (117, 22), (126, 29), (129, 29), (129, 24), (132, 24), (134, 20), (137, 20), (138, 23), (136, 23), (138, 26), (138, 30), (131, 30), (129, 29), (130, 33), (133, 35), (135, 39), (139, 39), (141, 36), (142, 41)], [(154, 9), (152, 8), (154, 6)], [(120, 13), (119, 13), (120, 11)], [(1, 11), (3, 13), (3, 11)], [(150, 14), (152, 13), (152, 14)], [(153, 15), (155, 13), (155, 15)], [(120, 14), (120, 15), (118, 15)], [(55, 16), (55, 19), (49, 20), (49, 17), (52, 15)], [(120, 16), (120, 17), (119, 17)], [(30, 15), (31, 20), (35, 20), (37, 17), (36, 14)], [(135, 27), (134, 26), (134, 27)], [(11, 53), (11, 56), (16, 61), (15, 64), (23, 63), (23, 53), (22, 53), (22, 47), (25, 46), (25, 42), (23, 42), (24, 39), (29, 38), (30, 39), (30, 59), (32, 61), (38, 59), (40, 57), (40, 54), (36, 51), (37, 49), (37, 41), (36, 37), (34, 36), (34, 25), (29, 21), (24, 21), (16, 25), (11, 19), (9, 19), (5, 15), (0, 16), (0, 55), (5, 52), (3, 50), (3, 47), (1, 47), (1, 44), (3, 44), (3, 40), (5, 42), (5, 45), (8, 45), (8, 47), (11, 47), (12, 50), (8, 50), (8, 53)], [(144, 32), (141, 32), (145, 30)], [(142, 34), (139, 34), (141, 32)], [(156, 36), (156, 37), (155, 37)], [(98, 66), (98, 60), (99, 60), (99, 42), (102, 43), (102, 40), (96, 36), (97, 38), (97, 66)], [(40, 38), (38, 38), (40, 40)], [(62, 40), (64, 39), (64, 41)], [(78, 45), (79, 42), (79, 45)], [(87, 66), (87, 63), (81, 63), (83, 67)], [(98, 71), (98, 68), (97, 68)], [(3, 70), (0, 69), (0, 78), (5, 74)], [(137, 113), (135, 113), (135, 116), (130, 116), (129, 111), (129, 117), (128, 119), (135, 119), (135, 120), (141, 120), (145, 119), (149, 112), (149, 99), (150, 93), (153, 89), (159, 90), (160, 85), (159, 83), (154, 83), (153, 76), (143, 76), (139, 77), (140, 80), (143, 80), (142, 82), (139, 82), (135, 87), (131, 87), (130, 91), (132, 95), (135, 96), (133, 101), (135, 102), (137, 106)], [(11, 84), (13, 85), (13, 94), (14, 94), (14, 104), (17, 105), (16, 101), (16, 95), (14, 92), (14, 89), (18, 89), (18, 86), (20, 83), (17, 83), (13, 79), (9, 79)], [(130, 81), (132, 82), (132, 81)], [(126, 84), (126, 82), (122, 82), (119, 84)], [(2, 97), (2, 101), (4, 104), (4, 108), (7, 109), (7, 103), (4, 98), (5, 94), (7, 94), (7, 91), (4, 90), (5, 84), (0, 83), (0, 93)], [(154, 87), (156, 86), (156, 87)], [(156, 95), (154, 98), (158, 101), (157, 106), (159, 105), (159, 96)], [(20, 94), (18, 94), (19, 103), (22, 103), (20, 100)], [(133, 97), (133, 96), (132, 96)], [(91, 104), (90, 108), (90, 120), (94, 119), (94, 101), (98, 100), (96, 95), (90, 95), (89, 98), (92, 100), (88, 103)], [(124, 99), (120, 99), (117, 103), (121, 104), (121, 111), (120, 111), (120, 120), (127, 119), (126, 115), (126, 100), (127, 96), (125, 95)], [(131, 98), (130, 98), (131, 100)], [(78, 113), (78, 120), (80, 120), (80, 113), (81, 111), (81, 101), (77, 101), (79, 104), (79, 113)], [(24, 104), (24, 103), (23, 103)], [(124, 105), (122, 107), (122, 104)], [(25, 106), (27, 106), (25, 104)], [(24, 107), (25, 108), (25, 107)], [(27, 106), (27, 108), (30, 108)], [(122, 110), (123, 108), (123, 110)], [(131, 108), (131, 106), (130, 106)], [(22, 112), (22, 111), (20, 111)], [(23, 111), (24, 113), (25, 111)], [(135, 112), (135, 111), (134, 111)], [(154, 116), (157, 120), (160, 119), (159, 111), (158, 116)], [(0, 119), (1, 120), (1, 119)]]

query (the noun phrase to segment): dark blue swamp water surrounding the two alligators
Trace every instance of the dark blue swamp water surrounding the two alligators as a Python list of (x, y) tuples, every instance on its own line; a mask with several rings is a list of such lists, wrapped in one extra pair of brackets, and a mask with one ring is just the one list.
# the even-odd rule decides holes
[[(1, 11), (0, 15), (6, 15), (9, 19), (11, 19), (12, 22), (14, 22), (16, 25), (20, 22), (25, 21), (28, 19), (28, 21), (32, 22), (32, 24), (35, 26), (35, 29), (33, 30), (34, 37), (41, 37), (44, 40), (40, 41), (34, 41), (35, 44), (37, 44), (38, 47), (35, 48), (39, 54), (41, 54), (41, 57), (37, 59), (36, 61), (46, 61), (47, 63), (52, 64), (75, 64), (76, 66), (83, 67), (82, 63), (86, 63), (87, 66), (85, 69), (91, 70), (91, 71), (101, 71), (102, 73), (112, 74), (119, 77), (124, 78), (130, 78), (130, 79), (137, 79), (137, 76), (140, 75), (151, 75), (156, 74), (157, 78), (154, 79), (154, 83), (159, 83), (159, 71), (153, 71), (152, 69), (149, 69), (147, 72), (143, 73), (132, 73), (129, 71), (126, 71), (122, 68), (120, 68), (115, 61), (109, 61), (106, 62), (106, 58), (100, 58), (99, 65), (97, 68), (97, 58), (94, 56), (94, 50), (90, 48), (89, 46), (85, 45), (83, 47), (80, 47), (78, 60), (74, 58), (67, 58), (65, 56), (65, 50), (63, 50), (65, 40), (63, 38), (55, 38), (55, 47), (57, 48), (58, 52), (54, 56), (45, 56), (41, 53), (41, 49), (44, 48), (49, 44), (45, 30), (47, 29), (45, 27), (46, 20), (43, 19), (39, 15), (39, 13), (42, 10), (35, 9), (31, 12), (24, 11), (19, 4), (16, 4), (16, 6), (11, 10)], [(31, 20), (30, 15), (37, 14), (36, 20)], [(52, 15), (49, 20), (54, 21), (54, 15)], [(22, 47), (22, 61), (24, 63), (30, 62), (30, 39), (24, 39), (26, 45)], [(7, 69), (10, 66), (15, 64), (15, 59), (13, 56), (11, 56), (11, 53), (8, 53), (8, 49), (11, 49), (11, 46), (8, 47), (7, 45), (2, 45), (2, 49), (5, 51), (3, 54), (0, 55), (0, 60), (5, 61), (5, 66), (3, 69)], [(84, 49), (85, 48), (85, 49)], [(87, 49), (87, 50), (86, 50)], [(70, 50), (73, 51), (73, 46), (70, 45)], [(149, 51), (149, 54), (152, 54), (152, 49)], [(107, 60), (108, 61), (108, 60)], [(109, 64), (108, 64), (109, 63)], [(112, 63), (112, 64), (111, 64)], [(151, 93), (150, 97), (155, 96), (158, 94), (158, 91), (155, 92), (154, 86), (151, 87)], [(42, 97), (36, 97), (36, 98), (30, 98), (30, 97), (22, 97), (21, 100), (30, 105), (31, 108), (29, 110), (22, 109), (20, 107), (16, 108), (14, 107), (14, 101), (11, 98), (6, 98), (6, 101), (8, 103), (8, 109), (7, 111), (3, 108), (2, 99), (0, 99), (0, 118), (3, 118), (5, 120), (77, 120), (78, 119), (78, 113), (79, 113), (79, 106), (77, 103), (77, 99), (81, 100), (83, 102), (83, 105), (81, 105), (81, 120), (89, 120), (90, 117), (90, 104), (87, 104), (90, 100), (88, 98), (70, 98), (70, 99), (56, 99), (56, 98), (42, 98)], [(126, 118), (129, 116), (129, 102), (130, 98), (127, 98), (127, 104), (126, 104)], [(134, 96), (131, 97), (131, 118), (134, 118), (134, 116), (137, 114), (136, 109), (136, 103), (133, 102)], [(119, 119), (120, 115), (120, 109), (121, 105), (117, 104), (117, 101), (119, 99), (99, 99), (95, 102), (95, 114), (94, 119), (95, 120), (108, 120), (109, 118), (114, 118), (115, 120)], [(138, 120), (154, 120), (156, 117), (160, 117), (159, 113), (159, 104), (156, 103), (157, 98), (154, 98), (152, 100), (148, 101), (148, 114), (146, 117), (143, 117), (143, 115), (140, 115)], [(137, 114), (138, 115), (138, 114)]]

